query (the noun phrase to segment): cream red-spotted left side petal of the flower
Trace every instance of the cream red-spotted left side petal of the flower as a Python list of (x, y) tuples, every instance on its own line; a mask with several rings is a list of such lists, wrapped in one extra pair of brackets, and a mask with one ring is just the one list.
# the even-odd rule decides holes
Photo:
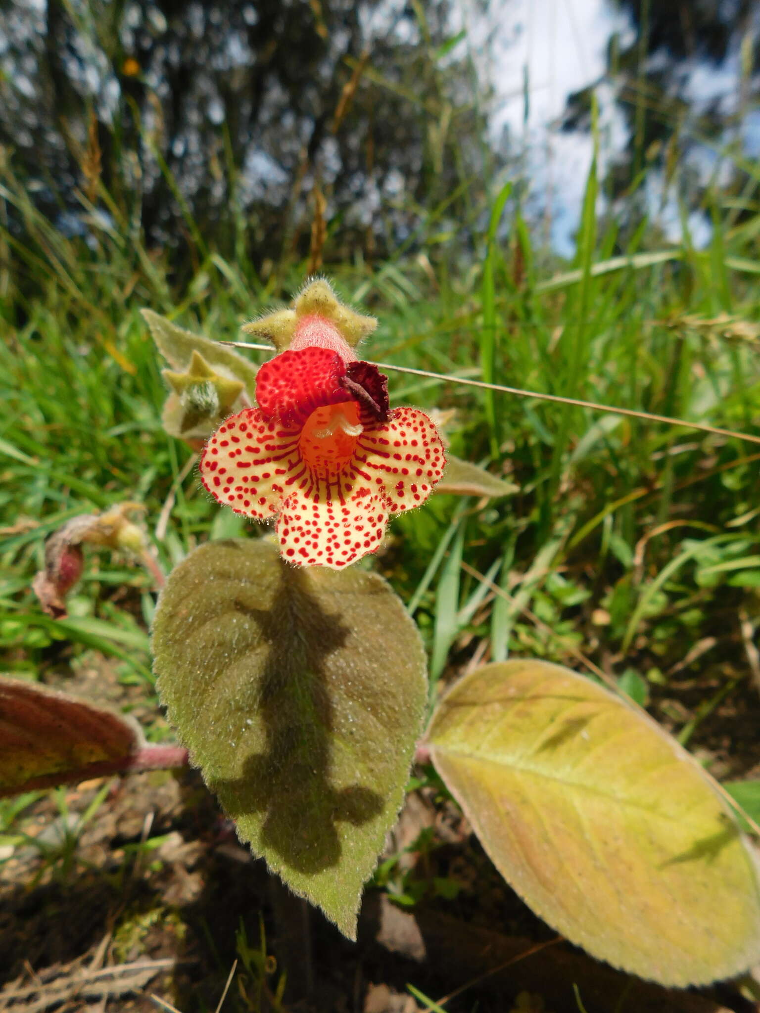
[(288, 481), (303, 474), (297, 428), (267, 420), (258, 408), (231, 415), (206, 445), (201, 480), (220, 503), (256, 521), (274, 517)]

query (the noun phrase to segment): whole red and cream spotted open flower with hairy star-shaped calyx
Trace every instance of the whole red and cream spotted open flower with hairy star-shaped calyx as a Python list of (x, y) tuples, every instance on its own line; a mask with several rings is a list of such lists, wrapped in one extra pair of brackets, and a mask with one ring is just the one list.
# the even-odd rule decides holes
[[(314, 289), (320, 312), (304, 298)], [(259, 369), (258, 406), (208, 442), (201, 478), (235, 513), (277, 517), (289, 562), (340, 569), (377, 550), (392, 515), (425, 502), (446, 458), (428, 415), (389, 409), (386, 378), (357, 360), (349, 342), (363, 335), (352, 325), (364, 321), (366, 332), (374, 321), (337, 303), (324, 282), (300, 303), (249, 328), (282, 346), (285, 326), (290, 346)]]

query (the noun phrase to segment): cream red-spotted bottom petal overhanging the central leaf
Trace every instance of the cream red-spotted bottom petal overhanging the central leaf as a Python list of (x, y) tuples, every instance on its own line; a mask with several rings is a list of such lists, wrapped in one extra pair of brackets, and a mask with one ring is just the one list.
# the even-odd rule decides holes
[(387, 523), (382, 495), (361, 482), (343, 500), (297, 489), (277, 524), (280, 552), (299, 566), (341, 569), (377, 550)]

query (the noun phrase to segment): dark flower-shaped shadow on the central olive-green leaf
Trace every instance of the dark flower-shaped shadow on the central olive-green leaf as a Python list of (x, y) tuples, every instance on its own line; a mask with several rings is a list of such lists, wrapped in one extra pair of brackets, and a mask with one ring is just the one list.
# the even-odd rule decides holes
[(334, 727), (325, 663), (349, 631), (310, 593), (309, 575), (282, 565), (271, 609), (234, 603), (269, 645), (258, 693), (267, 746), (245, 759), (238, 778), (210, 778), (209, 787), (234, 820), (262, 813), (261, 845), (291, 868), (315, 873), (338, 862), (335, 825), (361, 826), (382, 811), (384, 799), (359, 784), (336, 789), (330, 782)]

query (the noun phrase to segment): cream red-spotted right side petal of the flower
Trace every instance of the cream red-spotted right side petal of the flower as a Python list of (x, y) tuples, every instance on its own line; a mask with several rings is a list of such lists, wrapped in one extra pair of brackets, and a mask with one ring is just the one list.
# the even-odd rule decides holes
[(399, 514), (425, 502), (443, 475), (446, 453), (424, 411), (394, 408), (385, 424), (364, 431), (355, 460), (388, 511)]

